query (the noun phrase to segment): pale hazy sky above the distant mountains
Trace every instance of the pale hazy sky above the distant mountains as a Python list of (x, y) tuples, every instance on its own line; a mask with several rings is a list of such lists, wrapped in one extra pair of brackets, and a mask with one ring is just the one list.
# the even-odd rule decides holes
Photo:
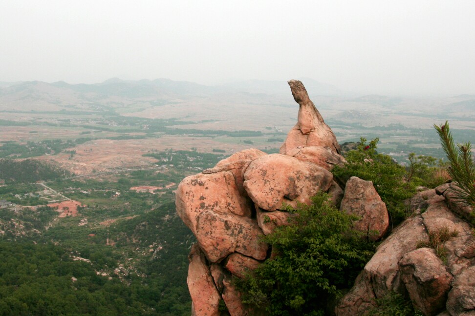
[(309, 77), (475, 93), (475, 1), (1, 0), (0, 81)]

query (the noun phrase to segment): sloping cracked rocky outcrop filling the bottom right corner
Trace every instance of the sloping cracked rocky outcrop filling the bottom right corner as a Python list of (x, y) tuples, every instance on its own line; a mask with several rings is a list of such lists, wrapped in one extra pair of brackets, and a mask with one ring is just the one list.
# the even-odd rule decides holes
[[(389, 292), (409, 295), (424, 315), (475, 315), (475, 238), (471, 226), (454, 214), (443, 196), (446, 188), (411, 199), (420, 215), (401, 223), (378, 246), (353, 288), (339, 301), (336, 315), (364, 315), (375, 298)], [(431, 245), (429, 236), (434, 240), (441, 232), (450, 233), (438, 245), (442, 258), (423, 247)]]

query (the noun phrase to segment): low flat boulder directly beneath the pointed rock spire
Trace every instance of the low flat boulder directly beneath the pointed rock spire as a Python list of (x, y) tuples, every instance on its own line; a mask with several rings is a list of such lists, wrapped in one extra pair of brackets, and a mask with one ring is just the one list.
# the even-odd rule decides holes
[(331, 170), (336, 165), (343, 166), (346, 162), (340, 154), (332, 151), (329, 147), (321, 146), (297, 147), (287, 150), (285, 155), (315, 163), (326, 170)]

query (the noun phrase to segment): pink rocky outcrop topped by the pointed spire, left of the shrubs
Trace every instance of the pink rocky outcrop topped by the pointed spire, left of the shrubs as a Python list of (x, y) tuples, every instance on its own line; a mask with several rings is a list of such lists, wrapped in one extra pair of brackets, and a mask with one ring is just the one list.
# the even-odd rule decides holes
[(335, 135), (302, 83), (289, 84), (300, 110), (282, 154), (244, 150), (178, 185), (176, 211), (197, 240), (188, 281), (193, 315), (218, 315), (221, 299), (231, 316), (259, 314), (242, 306), (232, 277), (244, 277), (276, 255), (261, 237), (289, 224), (294, 215), (288, 206), (310, 204), (319, 191), (329, 192), (335, 205), (343, 198), (329, 171), (345, 163)]

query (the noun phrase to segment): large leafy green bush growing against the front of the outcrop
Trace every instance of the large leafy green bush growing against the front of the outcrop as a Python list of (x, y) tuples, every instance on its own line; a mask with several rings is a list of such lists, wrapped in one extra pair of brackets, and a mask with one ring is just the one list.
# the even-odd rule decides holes
[(266, 315), (324, 315), (326, 303), (353, 285), (374, 244), (351, 229), (356, 217), (337, 210), (325, 193), (311, 206), (289, 211), (298, 215), (291, 224), (263, 238), (278, 256), (237, 286), (243, 302), (264, 308)]

